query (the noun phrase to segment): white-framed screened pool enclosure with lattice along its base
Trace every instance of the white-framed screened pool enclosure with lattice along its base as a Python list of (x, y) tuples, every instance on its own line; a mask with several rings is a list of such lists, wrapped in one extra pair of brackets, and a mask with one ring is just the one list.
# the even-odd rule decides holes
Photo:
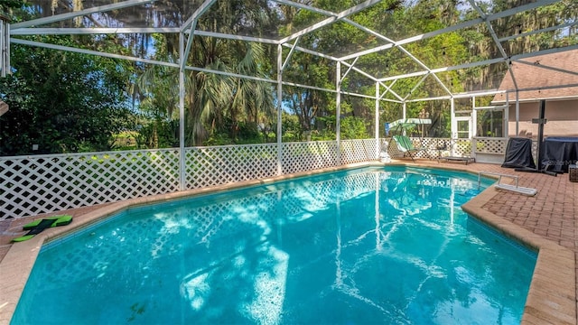
[[(1, 219), (395, 157), (394, 132), (417, 158), (501, 163), (521, 94), (578, 98), (575, 64), (536, 59), (578, 61), (574, 0), (0, 8)], [(525, 66), (557, 77), (524, 86)], [(120, 112), (130, 123), (112, 132)], [(412, 118), (427, 123), (386, 126)]]

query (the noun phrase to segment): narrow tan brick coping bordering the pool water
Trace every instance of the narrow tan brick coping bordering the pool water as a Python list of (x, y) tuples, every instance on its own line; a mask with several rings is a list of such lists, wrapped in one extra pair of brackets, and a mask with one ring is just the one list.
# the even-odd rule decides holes
[[(0, 298), (0, 324), (9, 324), (16, 305), (23, 292), (34, 262), (42, 245), (53, 239), (63, 237), (79, 228), (110, 217), (125, 209), (135, 208), (149, 203), (166, 200), (176, 200), (202, 194), (216, 193), (223, 190), (238, 189), (247, 186), (264, 185), (273, 181), (284, 181), (310, 176), (322, 172), (339, 172), (371, 166), (406, 166), (459, 171), (476, 174), (461, 168), (450, 166), (421, 166), (412, 163), (351, 163), (339, 167), (321, 170), (298, 172), (294, 174), (275, 176), (261, 180), (242, 181), (199, 190), (184, 190), (169, 194), (161, 194), (144, 198), (124, 200), (106, 204), (102, 207), (74, 216), (74, 221), (65, 227), (49, 228), (32, 239), (17, 243), (10, 247), (4, 259), (0, 261), (0, 279), (2, 279), (2, 298)], [(530, 283), (527, 302), (524, 308), (522, 324), (576, 324), (576, 269), (572, 250), (560, 246), (553, 241), (517, 226), (495, 214), (483, 209), (483, 205), (497, 194), (493, 186), (483, 190), (472, 200), (461, 206), (472, 217), (489, 224), (507, 237), (512, 237), (538, 252), (536, 267)]]

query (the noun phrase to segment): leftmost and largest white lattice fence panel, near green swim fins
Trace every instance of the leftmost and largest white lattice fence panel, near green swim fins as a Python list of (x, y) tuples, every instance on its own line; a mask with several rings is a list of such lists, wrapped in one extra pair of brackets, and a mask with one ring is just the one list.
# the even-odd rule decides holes
[(0, 158), (1, 218), (179, 190), (177, 150)]

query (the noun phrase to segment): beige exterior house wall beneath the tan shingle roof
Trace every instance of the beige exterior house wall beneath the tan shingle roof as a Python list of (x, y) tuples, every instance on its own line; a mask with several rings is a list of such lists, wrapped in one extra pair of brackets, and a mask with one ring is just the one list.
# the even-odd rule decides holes
[[(537, 138), (538, 125), (532, 118), (538, 118), (539, 102), (520, 103), (520, 119), (516, 134), (516, 104), (509, 106), (508, 135)], [(544, 136), (578, 136), (578, 99), (546, 100)]]

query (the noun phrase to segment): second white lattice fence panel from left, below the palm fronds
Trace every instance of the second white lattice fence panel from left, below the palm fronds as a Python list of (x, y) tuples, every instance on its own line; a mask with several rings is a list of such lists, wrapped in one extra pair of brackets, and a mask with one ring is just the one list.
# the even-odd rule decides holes
[(277, 172), (276, 144), (193, 147), (185, 155), (187, 189), (257, 180)]

